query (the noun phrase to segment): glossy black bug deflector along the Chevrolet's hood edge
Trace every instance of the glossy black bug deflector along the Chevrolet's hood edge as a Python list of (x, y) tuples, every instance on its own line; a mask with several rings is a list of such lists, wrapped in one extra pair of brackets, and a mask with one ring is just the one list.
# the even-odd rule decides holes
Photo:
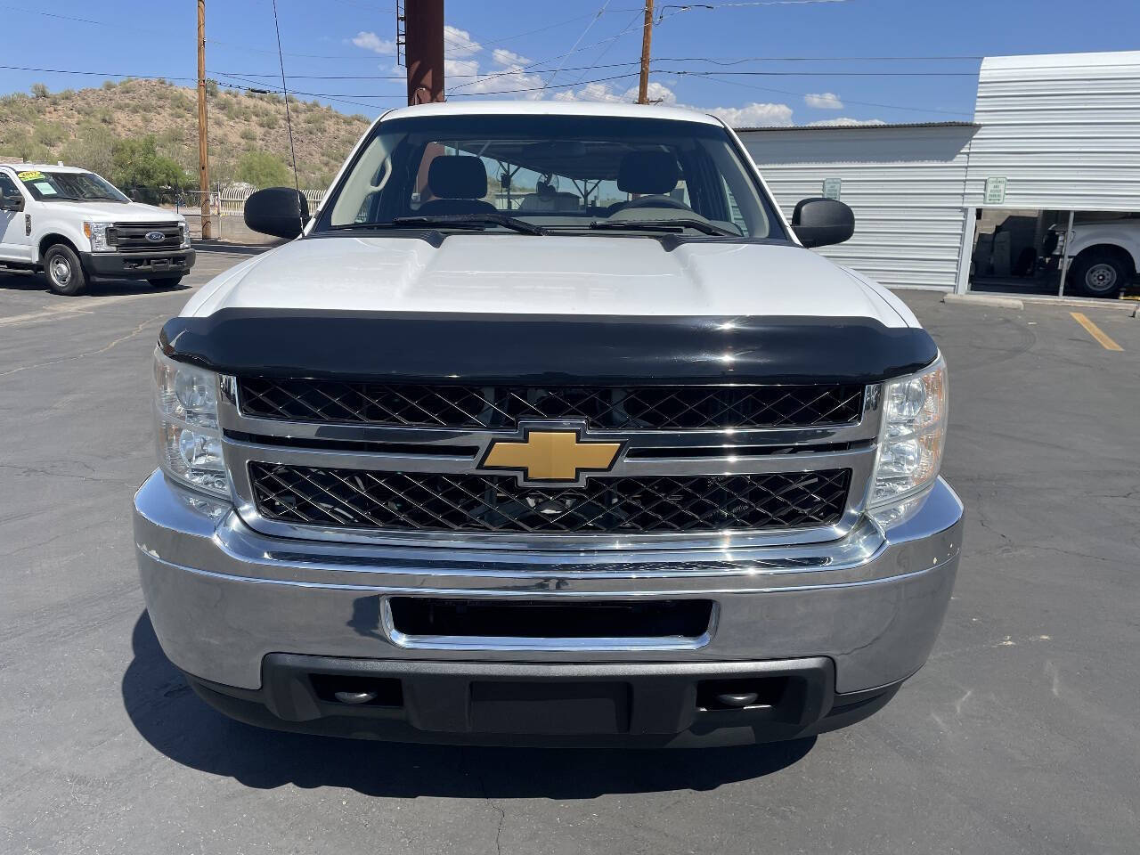
[(238, 308), (172, 318), (158, 342), (229, 374), (393, 383), (876, 383), (938, 352), (925, 329), (871, 318)]

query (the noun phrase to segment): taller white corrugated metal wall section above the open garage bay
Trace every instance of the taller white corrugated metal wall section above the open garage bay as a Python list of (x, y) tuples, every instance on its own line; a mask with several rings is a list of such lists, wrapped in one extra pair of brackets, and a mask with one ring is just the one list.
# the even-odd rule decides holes
[(968, 205), (1140, 211), (1140, 52), (987, 57), (975, 121)]

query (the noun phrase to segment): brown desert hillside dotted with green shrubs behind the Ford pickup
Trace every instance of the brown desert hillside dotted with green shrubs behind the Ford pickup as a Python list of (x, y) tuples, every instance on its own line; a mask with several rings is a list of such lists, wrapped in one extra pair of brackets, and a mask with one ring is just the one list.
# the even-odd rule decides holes
[[(324, 188), (367, 127), (317, 101), (290, 99), (303, 188)], [(290, 163), (279, 95), (209, 84), (211, 182), (280, 182)], [(0, 98), (0, 157), (85, 166), (120, 186), (197, 185), (197, 106), (193, 88), (163, 80), (105, 82), (96, 89)]]

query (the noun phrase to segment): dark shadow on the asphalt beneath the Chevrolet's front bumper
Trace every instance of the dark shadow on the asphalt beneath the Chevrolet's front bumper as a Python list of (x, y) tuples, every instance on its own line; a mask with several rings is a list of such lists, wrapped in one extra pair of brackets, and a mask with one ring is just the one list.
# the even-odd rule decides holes
[(595, 798), (714, 790), (779, 772), (815, 738), (743, 748), (676, 750), (461, 748), (266, 731), (233, 722), (190, 690), (146, 612), (132, 634), (123, 705), (139, 734), (176, 763), (246, 787), (347, 787), (389, 798)]

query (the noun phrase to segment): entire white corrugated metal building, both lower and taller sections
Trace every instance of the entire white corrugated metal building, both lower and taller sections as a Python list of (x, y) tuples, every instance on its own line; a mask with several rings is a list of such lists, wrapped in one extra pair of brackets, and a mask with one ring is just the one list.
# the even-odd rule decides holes
[(987, 57), (974, 123), (738, 132), (789, 215), (817, 195), (855, 211), (855, 236), (824, 254), (966, 291), (986, 209), (1140, 212), (1140, 51)]

